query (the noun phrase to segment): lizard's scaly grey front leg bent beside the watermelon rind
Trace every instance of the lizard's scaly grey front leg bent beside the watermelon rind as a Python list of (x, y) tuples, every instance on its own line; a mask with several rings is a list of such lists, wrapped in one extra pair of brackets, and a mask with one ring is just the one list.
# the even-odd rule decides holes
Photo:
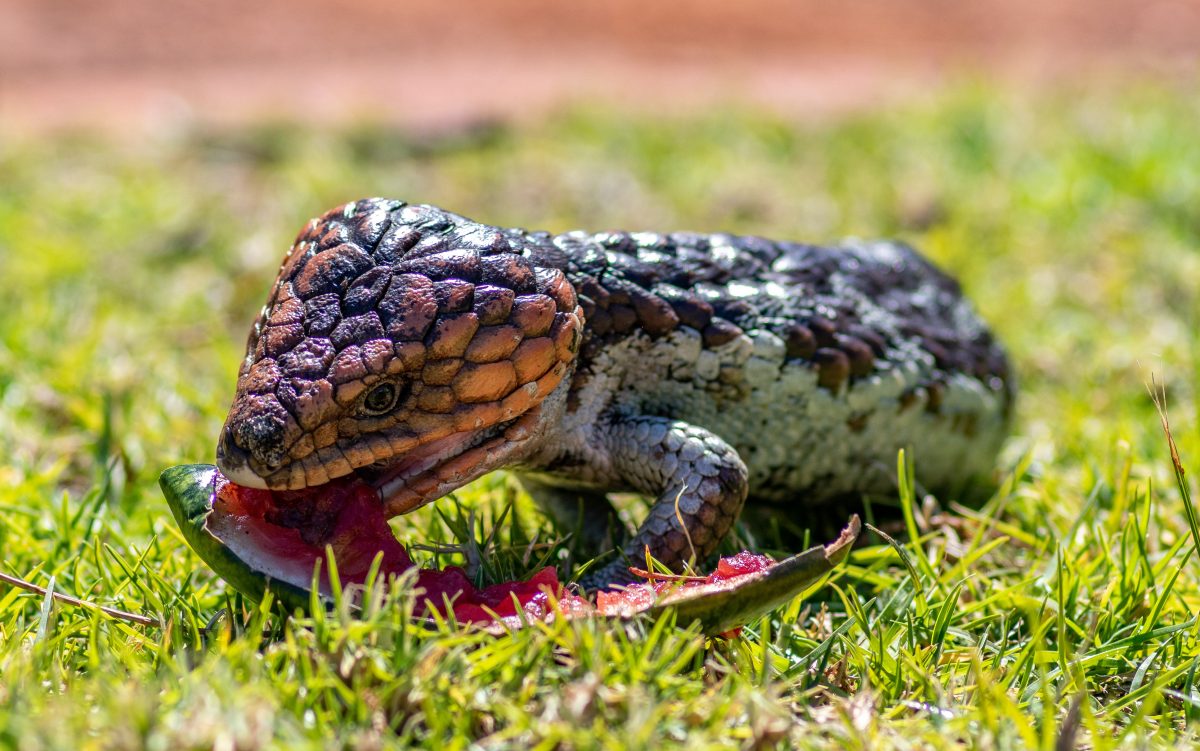
[(646, 551), (672, 570), (716, 549), (745, 501), (745, 463), (730, 444), (704, 428), (666, 417), (619, 417), (598, 428), (612, 474), (656, 500), (622, 559), (583, 577), (588, 589), (634, 581), (630, 563)]

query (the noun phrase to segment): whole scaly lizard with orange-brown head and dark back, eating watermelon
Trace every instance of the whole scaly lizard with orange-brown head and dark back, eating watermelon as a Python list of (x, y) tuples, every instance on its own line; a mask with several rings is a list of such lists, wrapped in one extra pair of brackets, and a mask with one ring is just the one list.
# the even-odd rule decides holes
[[(748, 498), (817, 504), (988, 474), (1013, 398), (958, 286), (895, 244), (528, 233), (383, 199), (313, 220), (251, 332), (217, 464), (252, 487), (352, 471), (389, 515), (493, 469), (624, 555), (713, 552)], [(629, 581), (618, 559), (589, 587)]]

